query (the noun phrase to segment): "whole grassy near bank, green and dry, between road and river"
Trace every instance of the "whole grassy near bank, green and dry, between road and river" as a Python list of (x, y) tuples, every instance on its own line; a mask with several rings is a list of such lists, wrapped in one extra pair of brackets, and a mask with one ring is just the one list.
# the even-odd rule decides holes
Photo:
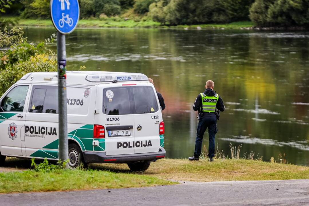
[[(8, 172), (10, 167), (14, 171)], [(152, 162), (145, 172), (130, 172), (126, 164), (90, 164), (88, 170), (49, 172), (28, 168), (29, 160), (8, 158), (6, 170), (0, 172), (0, 193), (152, 187), (186, 181), (309, 179), (306, 166), (244, 159), (162, 159)]]

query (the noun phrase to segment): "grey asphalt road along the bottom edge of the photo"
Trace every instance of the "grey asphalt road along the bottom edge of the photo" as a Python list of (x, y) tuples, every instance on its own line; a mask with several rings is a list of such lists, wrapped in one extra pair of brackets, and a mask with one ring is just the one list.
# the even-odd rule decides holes
[(309, 179), (0, 195), (0, 205), (309, 205)]

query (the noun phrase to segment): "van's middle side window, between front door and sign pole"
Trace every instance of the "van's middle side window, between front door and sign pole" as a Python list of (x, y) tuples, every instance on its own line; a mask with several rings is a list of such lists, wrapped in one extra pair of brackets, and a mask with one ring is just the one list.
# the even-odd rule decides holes
[(28, 111), (33, 113), (57, 114), (57, 94), (57, 86), (33, 86)]

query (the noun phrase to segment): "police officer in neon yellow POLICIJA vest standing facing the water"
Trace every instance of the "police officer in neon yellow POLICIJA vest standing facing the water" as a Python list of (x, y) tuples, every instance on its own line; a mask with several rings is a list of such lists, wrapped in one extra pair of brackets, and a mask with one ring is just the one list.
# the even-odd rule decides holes
[(213, 81), (208, 80), (205, 88), (206, 90), (197, 96), (193, 104), (193, 110), (199, 111), (199, 122), (197, 126), (194, 155), (188, 158), (190, 161), (199, 160), (203, 136), (207, 128), (209, 133), (208, 157), (210, 162), (214, 161), (214, 139), (218, 132), (216, 109), (224, 111), (224, 104), (221, 97), (214, 91)]

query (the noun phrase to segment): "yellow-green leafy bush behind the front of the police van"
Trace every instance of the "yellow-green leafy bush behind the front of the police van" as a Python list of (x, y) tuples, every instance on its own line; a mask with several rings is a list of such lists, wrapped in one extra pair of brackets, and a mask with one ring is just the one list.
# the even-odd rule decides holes
[(1, 48), (10, 46), (0, 51), (0, 94), (29, 72), (57, 71), (56, 55), (47, 51), (44, 42), (27, 43), (21, 28), (0, 31), (0, 37)]

